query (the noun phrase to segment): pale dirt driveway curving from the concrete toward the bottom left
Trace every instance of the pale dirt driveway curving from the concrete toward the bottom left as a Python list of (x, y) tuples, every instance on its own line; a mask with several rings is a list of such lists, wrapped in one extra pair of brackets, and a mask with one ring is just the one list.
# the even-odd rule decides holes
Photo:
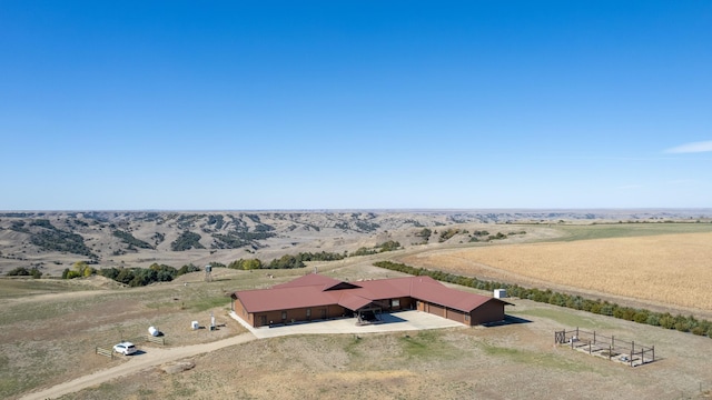
[(134, 374), (141, 370), (154, 368), (166, 362), (180, 360), (187, 357), (192, 357), (215, 350), (219, 350), (229, 346), (245, 343), (257, 338), (250, 333), (243, 333), (228, 339), (218, 340), (210, 343), (201, 343), (194, 346), (184, 346), (172, 349), (154, 349), (146, 351), (145, 353), (132, 356), (129, 361), (109, 368), (106, 370), (97, 371), (95, 373), (77, 378), (75, 380), (57, 384), (42, 391), (28, 393), (21, 397), (21, 400), (43, 400), (55, 399), (67, 393), (76, 392), (85, 388), (93, 387), (111, 379), (126, 377)]

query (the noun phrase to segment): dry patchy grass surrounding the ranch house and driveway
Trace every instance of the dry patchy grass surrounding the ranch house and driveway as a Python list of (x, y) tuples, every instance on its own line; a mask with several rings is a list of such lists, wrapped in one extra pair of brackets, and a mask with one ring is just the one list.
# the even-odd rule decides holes
[[(168, 348), (207, 343), (245, 330), (226, 317), (225, 292), (264, 288), (310, 272), (217, 269), (146, 288), (77, 281), (0, 280), (0, 398), (48, 388), (93, 371), (131, 363), (93, 353), (155, 324)], [(393, 277), (362, 260), (320, 263), (338, 279)], [(69, 287), (68, 287), (69, 286)], [(512, 313), (530, 323), (384, 334), (296, 336), (255, 340), (190, 357), (194, 368), (166, 366), (62, 397), (89, 399), (672, 399), (699, 398), (712, 388), (710, 339), (675, 330), (512, 300)], [(194, 331), (215, 312), (225, 327)], [(654, 362), (629, 368), (553, 344), (562, 328), (595, 329), (655, 344)], [(154, 353), (160, 346), (140, 342)]]

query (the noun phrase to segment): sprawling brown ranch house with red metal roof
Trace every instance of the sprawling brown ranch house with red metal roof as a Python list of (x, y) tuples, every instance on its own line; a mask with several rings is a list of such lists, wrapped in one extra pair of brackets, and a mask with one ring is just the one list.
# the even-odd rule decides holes
[(342, 317), (368, 319), (378, 312), (414, 310), (466, 326), (504, 320), (501, 299), (451, 289), (429, 277), (345, 282), (310, 273), (269, 289), (231, 294), (231, 309), (258, 328)]

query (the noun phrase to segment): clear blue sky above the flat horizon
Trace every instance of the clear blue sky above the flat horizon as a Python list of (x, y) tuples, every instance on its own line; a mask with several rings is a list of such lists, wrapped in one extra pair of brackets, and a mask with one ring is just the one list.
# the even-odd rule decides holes
[(1, 210), (712, 207), (710, 1), (0, 2)]

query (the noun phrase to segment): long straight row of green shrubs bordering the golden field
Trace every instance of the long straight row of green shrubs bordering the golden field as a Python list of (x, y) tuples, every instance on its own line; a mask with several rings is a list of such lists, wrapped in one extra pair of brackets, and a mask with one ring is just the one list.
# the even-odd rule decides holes
[(374, 266), (414, 276), (428, 276), (439, 281), (481, 290), (493, 291), (494, 289), (506, 289), (507, 294), (512, 297), (567, 307), (576, 310), (610, 316), (629, 321), (635, 321), (639, 323), (662, 327), (665, 329), (676, 329), (681, 332), (692, 332), (693, 334), (708, 336), (712, 338), (712, 321), (700, 320), (694, 318), (693, 316), (672, 316), (669, 312), (655, 312), (646, 309), (619, 306), (616, 303), (604, 301), (601, 299), (586, 299), (581, 296), (561, 293), (552, 291), (550, 289), (540, 290), (536, 288), (523, 288), (517, 284), (485, 281), (477, 278), (462, 277), (448, 272), (428, 270), (425, 268), (415, 268), (404, 263), (392, 261), (378, 261), (375, 262)]

